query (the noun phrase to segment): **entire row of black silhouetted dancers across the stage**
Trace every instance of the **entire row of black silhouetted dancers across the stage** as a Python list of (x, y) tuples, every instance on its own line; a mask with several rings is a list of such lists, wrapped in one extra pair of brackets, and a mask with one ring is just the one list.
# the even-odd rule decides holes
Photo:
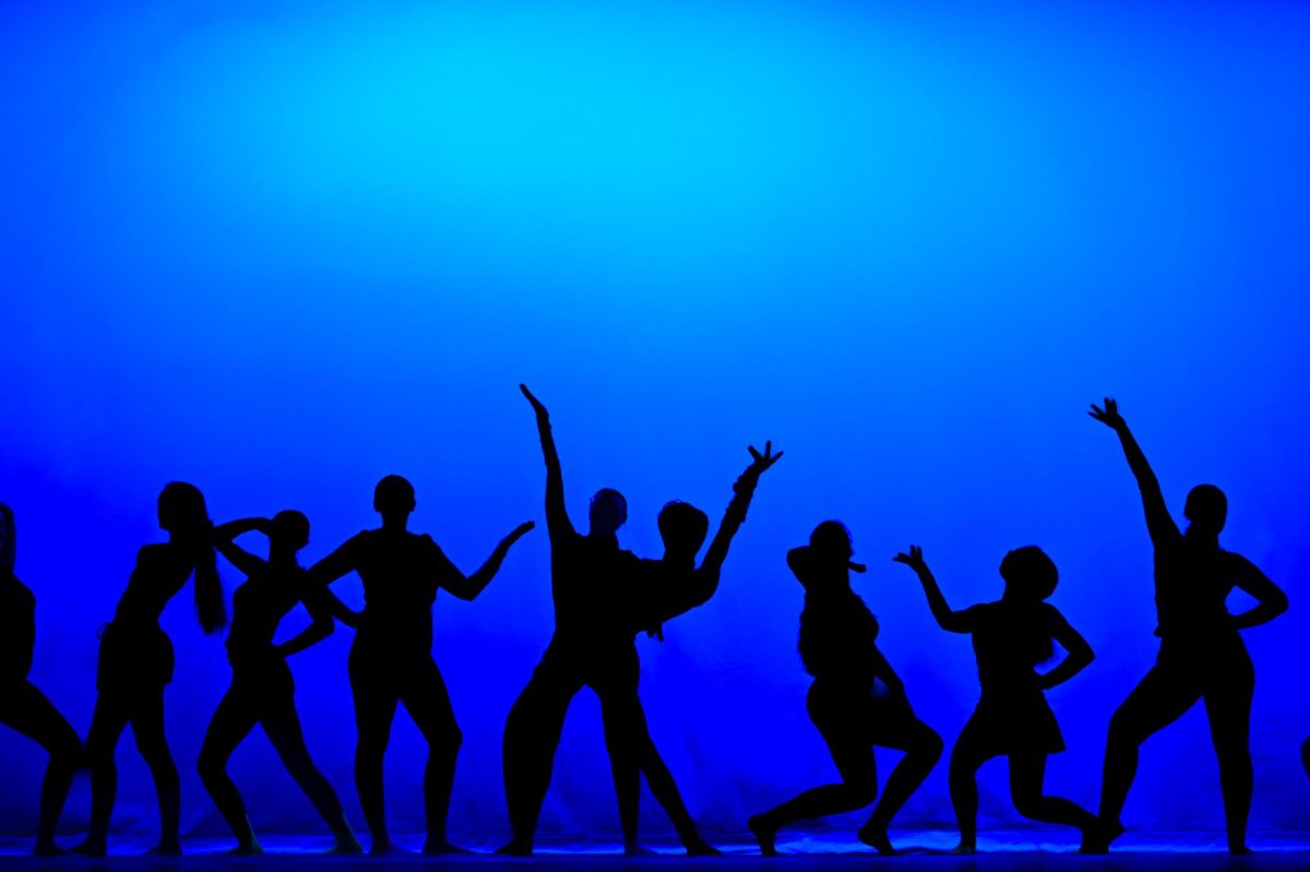
[[(520, 388), (536, 412), (546, 462), (555, 630), (506, 721), (504, 792), (514, 835), (502, 852), (532, 854), (565, 715), (578, 691), (590, 687), (600, 699), (625, 851), (642, 850), (637, 821), (645, 774), (688, 854), (717, 854), (697, 831), (651, 741), (638, 695), (635, 638), (641, 632), (659, 634), (665, 622), (714, 596), (728, 546), (745, 521), (760, 477), (782, 452), (774, 453), (769, 443), (762, 452), (749, 449), (751, 463), (736, 479), (732, 499), (700, 564), (697, 555), (709, 534), (709, 518), (681, 501), (667, 504), (659, 515), (664, 555), (658, 560), (638, 559), (618, 545), (617, 532), (627, 517), (618, 491), (597, 491), (591, 499), (587, 532), (576, 530), (565, 508), (563, 473), (549, 414), (527, 388)], [(1155, 665), (1111, 720), (1099, 814), (1048, 796), (1043, 788), (1048, 754), (1064, 749), (1045, 690), (1073, 678), (1093, 661), (1087, 642), (1045, 602), (1058, 577), (1051, 558), (1035, 546), (1010, 551), (1000, 567), (1005, 581), (1001, 598), (963, 610), (950, 606), (920, 547), (910, 546), (893, 558), (918, 576), (938, 625), (950, 632), (969, 634), (977, 656), (981, 697), (950, 761), (951, 801), (960, 827), (958, 850), (972, 852), (976, 846), (977, 770), (994, 757), (1007, 757), (1019, 814), (1077, 827), (1083, 851), (1107, 851), (1123, 833), (1120, 812), (1136, 775), (1138, 748), (1204, 699), (1218, 755), (1229, 850), (1246, 852), (1255, 676), (1239, 631), (1276, 618), (1286, 609), (1286, 597), (1246, 558), (1220, 547), (1227, 509), (1222, 491), (1210, 484), (1193, 488), (1184, 508), (1188, 525), (1180, 530), (1115, 401), (1093, 406), (1090, 414), (1117, 433), (1141, 490), (1155, 553), (1161, 639)], [(246, 580), (232, 597), (227, 639), (232, 685), (206, 733), (199, 772), (237, 838), (233, 851), (261, 852), (241, 793), (227, 774), (228, 758), (255, 725), (263, 727), (292, 778), (331, 827), (334, 851), (363, 850), (337, 793), (305, 748), (287, 666), (288, 656), (330, 635), (338, 621), (356, 631), (348, 666), (358, 728), (355, 783), (372, 838), (371, 851), (396, 850), (384, 813), (383, 757), (398, 704), (409, 711), (428, 745), (423, 850), (436, 855), (457, 851), (447, 839), (447, 812), (461, 735), (432, 659), (431, 610), (440, 588), (461, 600), (474, 600), (533, 524), (515, 528), (481, 568), (465, 575), (431, 537), (409, 532), (414, 505), (410, 483), (388, 475), (373, 495), (381, 526), (359, 533), (304, 570), (296, 555), (309, 541), (309, 521), (300, 512), (215, 526), (199, 490), (178, 482), (165, 487), (159, 498), (159, 522), (168, 541), (140, 550), (114, 619), (101, 634), (98, 697), (85, 745), (28, 680), (35, 600), (13, 573), (14, 518), (8, 507), (0, 505), (0, 720), (50, 754), (37, 854), (58, 852), (55, 827), (75, 771), (84, 766), (92, 778), (92, 816), (86, 839), (75, 850), (106, 852), (117, 790), (114, 749), (128, 724), (159, 795), (161, 835), (151, 852), (181, 854), (178, 774), (164, 735), (164, 689), (173, 674), (173, 648), (159, 619), (191, 579), (200, 626), (206, 632), (224, 627), (227, 609), (216, 554)], [(236, 543), (246, 533), (267, 538), (266, 558)], [(942, 754), (942, 738), (916, 716), (904, 685), (878, 648), (878, 621), (850, 587), (850, 572), (863, 572), (865, 567), (853, 563), (852, 556), (850, 533), (838, 521), (824, 521), (808, 545), (787, 554), (787, 566), (806, 590), (799, 648), (814, 677), (807, 707), (841, 780), (752, 817), (748, 825), (764, 854), (774, 852), (778, 831), (790, 824), (872, 804), (878, 799), (875, 746), (905, 755), (883, 786), (859, 838), (879, 852), (893, 854), (888, 826)], [(364, 587), (365, 606), (359, 613), (346, 608), (329, 588), (351, 572)], [(1233, 588), (1248, 593), (1256, 605), (1230, 614), (1225, 601)], [(301, 604), (313, 618), (310, 626), (275, 643), (279, 622)], [(1053, 657), (1056, 644), (1066, 656), (1039, 672)], [(1301, 750), (1310, 772), (1310, 741)]]

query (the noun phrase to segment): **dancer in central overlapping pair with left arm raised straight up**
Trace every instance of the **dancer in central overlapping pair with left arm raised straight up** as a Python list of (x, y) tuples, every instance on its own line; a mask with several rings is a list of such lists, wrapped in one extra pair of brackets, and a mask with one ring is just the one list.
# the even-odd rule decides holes
[(519, 386), (536, 411), (546, 461), (546, 528), (550, 533), (550, 589), (555, 631), (504, 724), (504, 793), (512, 841), (502, 854), (532, 854), (541, 804), (550, 787), (555, 749), (569, 703), (583, 687), (600, 698), (624, 830), (624, 850), (637, 845), (637, 797), (641, 784), (641, 665), (633, 635), (633, 583), (637, 558), (618, 547), (618, 528), (627, 520), (627, 501), (610, 488), (591, 498), (587, 536), (579, 534), (565, 508), (563, 473), (546, 407)]

